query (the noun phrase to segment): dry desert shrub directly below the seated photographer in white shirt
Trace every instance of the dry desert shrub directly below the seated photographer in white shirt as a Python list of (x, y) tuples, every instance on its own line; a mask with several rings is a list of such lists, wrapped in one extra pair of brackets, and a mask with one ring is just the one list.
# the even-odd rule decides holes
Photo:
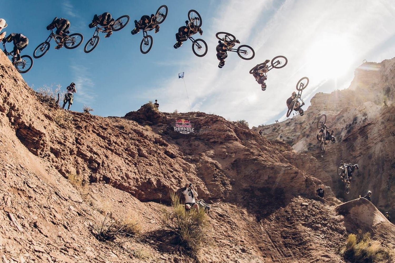
[(207, 241), (209, 232), (208, 216), (204, 209), (199, 213), (191, 208), (185, 211), (184, 205), (180, 203), (180, 197), (175, 192), (170, 193), (171, 211), (162, 210), (161, 226), (165, 230), (170, 230), (178, 237), (179, 246), (187, 252), (195, 254), (200, 250), (202, 244)]

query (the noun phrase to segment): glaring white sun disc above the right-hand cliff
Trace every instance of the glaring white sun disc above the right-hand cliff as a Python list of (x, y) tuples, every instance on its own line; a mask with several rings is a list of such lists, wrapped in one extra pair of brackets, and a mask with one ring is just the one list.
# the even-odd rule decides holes
[(353, 58), (353, 49), (345, 37), (320, 37), (307, 47), (307, 74), (317, 79), (337, 78), (346, 73)]

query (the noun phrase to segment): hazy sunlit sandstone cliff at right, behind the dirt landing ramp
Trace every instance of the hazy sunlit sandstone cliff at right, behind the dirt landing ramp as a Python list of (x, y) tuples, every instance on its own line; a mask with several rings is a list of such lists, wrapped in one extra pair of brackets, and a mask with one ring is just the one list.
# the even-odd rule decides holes
[[(321, 168), (310, 167), (341, 200), (353, 200), (373, 192), (372, 203), (383, 213), (395, 213), (395, 59), (364, 63), (355, 70), (350, 88), (331, 94), (318, 93), (304, 116), (259, 127), (269, 140), (284, 140), (297, 153), (316, 159)], [(386, 104), (383, 103), (386, 101)], [(327, 125), (335, 132), (336, 143), (327, 145), (320, 157), (316, 123), (326, 114)], [(350, 194), (339, 182), (337, 164), (358, 163)], [(322, 174), (322, 176), (320, 175)], [(332, 180), (328, 180), (328, 176)]]

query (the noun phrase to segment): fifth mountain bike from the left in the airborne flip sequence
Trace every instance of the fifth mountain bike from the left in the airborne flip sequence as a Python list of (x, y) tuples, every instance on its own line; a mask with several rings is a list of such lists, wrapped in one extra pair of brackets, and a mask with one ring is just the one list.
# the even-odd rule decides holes
[[(205, 56), (205, 54), (207, 54), (206, 41), (204, 41), (203, 39), (200, 39), (200, 38), (194, 39), (192, 37), (192, 35), (196, 34), (197, 32), (200, 32), (200, 33), (202, 32), (200, 29), (201, 22), (202, 22), (201, 16), (199, 15), (198, 11), (191, 9), (188, 11), (188, 20), (189, 20), (189, 24), (187, 25), (187, 27), (188, 27), (188, 29), (193, 28), (194, 32), (189, 35), (180, 36), (180, 39), (182, 41), (185, 41), (187, 38), (189, 38), (190, 41), (192, 41), (192, 51), (194, 52), (194, 54), (198, 57), (203, 57), (203, 56)], [(181, 45), (178, 44), (178, 42), (175, 43), (174, 48), (179, 48), (179, 47), (181, 47)]]

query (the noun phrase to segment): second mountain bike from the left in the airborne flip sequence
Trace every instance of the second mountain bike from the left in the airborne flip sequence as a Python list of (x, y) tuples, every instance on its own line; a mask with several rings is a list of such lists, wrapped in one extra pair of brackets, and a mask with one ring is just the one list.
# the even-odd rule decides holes
[[(69, 34), (70, 31), (67, 31), (64, 33)], [(81, 35), (79, 33), (74, 33), (74, 34), (66, 35), (66, 36), (57, 35), (53, 32), (53, 29), (51, 29), (51, 34), (49, 34), (49, 37), (47, 37), (47, 40), (45, 40), (43, 43), (38, 45), (38, 47), (36, 47), (36, 49), (34, 50), (34, 52), (33, 52), (34, 58), (41, 58), (42, 56), (45, 55), (45, 53), (47, 53), (47, 51), (49, 50), (49, 41), (51, 41), (51, 39), (55, 39), (55, 42), (58, 45), (60, 45), (60, 43), (62, 43), (65, 48), (73, 49), (73, 48), (76, 48), (79, 45), (81, 45), (84, 37), (83, 37), (83, 35)], [(61, 42), (61, 40), (63, 42)]]

